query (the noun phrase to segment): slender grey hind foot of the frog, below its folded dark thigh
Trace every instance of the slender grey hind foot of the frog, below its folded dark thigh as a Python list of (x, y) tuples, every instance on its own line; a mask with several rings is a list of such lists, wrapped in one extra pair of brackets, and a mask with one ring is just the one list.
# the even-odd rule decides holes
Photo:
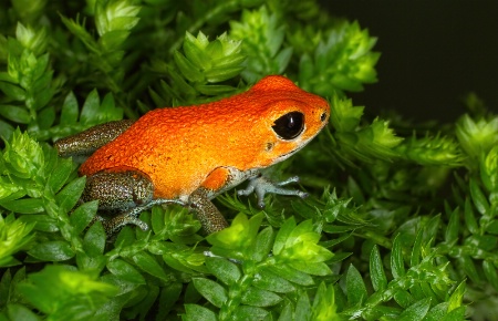
[(128, 209), (125, 213), (122, 213), (112, 218), (103, 218), (102, 216), (96, 216), (95, 220), (100, 220), (102, 222), (107, 236), (116, 234), (126, 225), (135, 225), (135, 226), (139, 227), (142, 230), (148, 230), (148, 225), (145, 221), (141, 220), (138, 218), (138, 215), (142, 211), (149, 209), (154, 205), (162, 205), (162, 204), (177, 204), (177, 205), (185, 206), (185, 203), (183, 203), (178, 199), (158, 198), (158, 199), (151, 200), (146, 205), (137, 206), (135, 208)]

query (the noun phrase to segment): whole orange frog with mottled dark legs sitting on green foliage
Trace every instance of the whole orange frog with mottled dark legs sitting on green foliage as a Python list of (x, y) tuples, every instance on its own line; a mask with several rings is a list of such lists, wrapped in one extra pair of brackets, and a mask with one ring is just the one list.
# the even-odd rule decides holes
[(94, 126), (55, 142), (61, 156), (89, 156), (83, 201), (98, 199), (100, 211), (118, 213), (102, 220), (107, 234), (126, 224), (146, 229), (138, 214), (156, 204), (188, 206), (210, 234), (227, 221), (210, 199), (249, 179), (239, 195), (255, 191), (297, 195), (260, 170), (307, 145), (328, 123), (325, 100), (290, 80), (272, 75), (245, 93), (218, 102), (148, 112), (138, 121)]

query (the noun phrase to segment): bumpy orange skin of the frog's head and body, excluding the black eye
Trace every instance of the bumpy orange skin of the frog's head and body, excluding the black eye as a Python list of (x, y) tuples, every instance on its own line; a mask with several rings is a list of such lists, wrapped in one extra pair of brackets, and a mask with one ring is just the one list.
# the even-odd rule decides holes
[[(304, 114), (305, 130), (284, 141), (271, 126), (293, 111)], [(200, 186), (216, 190), (227, 179), (226, 170), (216, 168), (245, 172), (282, 161), (320, 132), (329, 112), (325, 100), (286, 77), (268, 76), (218, 102), (148, 112), (86, 159), (80, 174), (138, 169), (151, 177), (154, 198), (181, 198)]]

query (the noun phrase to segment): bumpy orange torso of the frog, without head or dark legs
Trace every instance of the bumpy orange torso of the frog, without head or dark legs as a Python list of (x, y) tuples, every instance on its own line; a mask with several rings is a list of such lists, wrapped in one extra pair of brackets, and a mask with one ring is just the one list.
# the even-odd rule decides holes
[[(151, 111), (97, 149), (80, 167), (80, 174), (141, 170), (154, 183), (155, 197), (189, 195), (215, 168), (245, 170), (241, 166), (245, 159), (257, 158), (250, 155), (256, 151), (247, 148), (253, 143), (240, 143), (240, 137), (247, 134), (247, 126), (238, 125), (240, 104), (249, 104), (243, 94), (237, 101), (227, 99), (199, 106)], [(252, 112), (255, 116), (258, 113)]]

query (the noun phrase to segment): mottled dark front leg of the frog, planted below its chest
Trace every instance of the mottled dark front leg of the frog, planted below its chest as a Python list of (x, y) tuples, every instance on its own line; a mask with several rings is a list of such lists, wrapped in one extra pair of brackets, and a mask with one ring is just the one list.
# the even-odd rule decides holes
[(206, 188), (197, 188), (188, 198), (188, 205), (197, 214), (197, 219), (209, 235), (227, 228), (228, 222), (207, 195)]

